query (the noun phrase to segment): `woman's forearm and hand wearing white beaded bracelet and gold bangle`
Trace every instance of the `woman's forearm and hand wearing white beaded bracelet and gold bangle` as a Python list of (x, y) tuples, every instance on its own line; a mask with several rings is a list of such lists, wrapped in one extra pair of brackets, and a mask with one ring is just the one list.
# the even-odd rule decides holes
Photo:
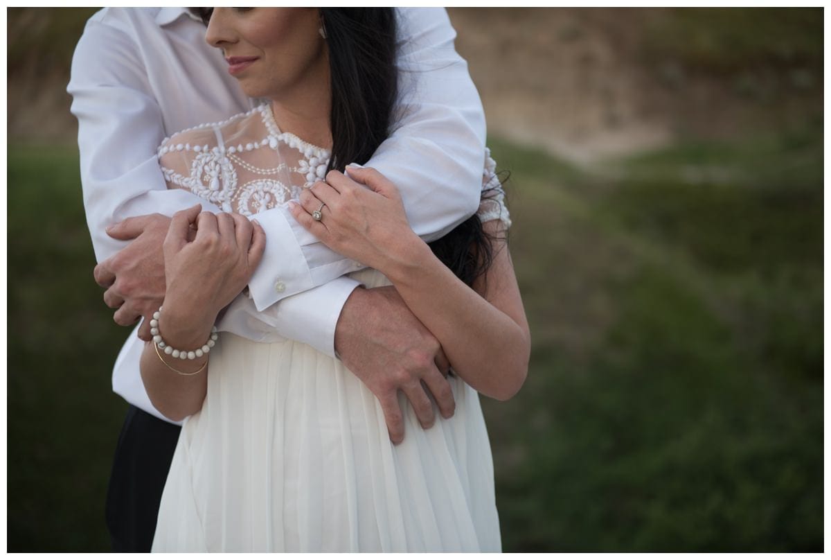
[[(202, 349), (219, 311), (248, 283), (265, 246), (260, 225), (200, 209), (177, 212), (165, 238), (166, 290), (158, 329), (175, 349)], [(150, 402), (175, 421), (198, 412), (208, 389), (210, 354), (177, 359), (156, 349), (155, 342), (145, 343), (140, 360)]]

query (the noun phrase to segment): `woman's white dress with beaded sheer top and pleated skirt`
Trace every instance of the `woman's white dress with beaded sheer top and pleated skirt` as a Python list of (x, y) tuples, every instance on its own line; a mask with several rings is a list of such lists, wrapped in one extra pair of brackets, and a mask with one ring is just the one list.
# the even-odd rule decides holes
[[(278, 130), (268, 106), (160, 148), (171, 188), (250, 215), (296, 199), (329, 154)], [(484, 183), (499, 187), (486, 155)], [(509, 224), (502, 196), (483, 221)], [(376, 270), (353, 274), (387, 284)], [(390, 442), (376, 397), (307, 344), (219, 336), (202, 410), (185, 420), (154, 551), (499, 551), (494, 471), (479, 394), (450, 377), (455, 415), (421, 429), (406, 399)]]

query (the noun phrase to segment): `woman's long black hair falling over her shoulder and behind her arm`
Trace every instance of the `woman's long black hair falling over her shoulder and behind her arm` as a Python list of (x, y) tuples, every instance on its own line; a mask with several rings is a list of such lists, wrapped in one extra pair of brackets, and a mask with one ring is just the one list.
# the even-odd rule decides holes
[[(212, 8), (191, 8), (208, 22)], [(332, 157), (327, 171), (365, 164), (391, 134), (398, 97), (396, 12), (391, 7), (322, 7), (332, 88)], [(484, 154), (482, 159), (484, 167)], [(465, 284), (493, 259), (479, 216), (470, 216), (430, 249)]]

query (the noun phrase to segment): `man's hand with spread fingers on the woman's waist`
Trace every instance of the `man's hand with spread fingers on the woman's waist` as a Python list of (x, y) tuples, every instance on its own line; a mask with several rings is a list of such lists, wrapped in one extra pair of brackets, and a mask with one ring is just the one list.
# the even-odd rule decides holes
[(381, 402), (394, 444), (404, 439), (398, 391), (404, 391), (425, 429), (435, 421), (433, 395), (450, 418), (455, 400), (445, 375), (450, 370), (439, 341), (412, 314), (393, 286), (352, 292), (335, 329), (335, 349), (344, 365)]

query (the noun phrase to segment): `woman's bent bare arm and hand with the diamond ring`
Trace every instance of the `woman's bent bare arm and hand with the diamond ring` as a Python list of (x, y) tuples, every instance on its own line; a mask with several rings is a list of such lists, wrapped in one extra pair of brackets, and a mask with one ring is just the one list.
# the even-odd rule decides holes
[[(333, 250), (381, 270), (462, 379), (495, 399), (512, 397), (528, 371), (530, 335), (500, 222), (484, 225), (496, 234), (494, 261), (473, 290), (413, 233), (390, 181), (369, 168), (348, 172), (371, 190), (333, 171), (293, 206), (297, 221)], [(322, 221), (312, 220), (323, 202)]]

